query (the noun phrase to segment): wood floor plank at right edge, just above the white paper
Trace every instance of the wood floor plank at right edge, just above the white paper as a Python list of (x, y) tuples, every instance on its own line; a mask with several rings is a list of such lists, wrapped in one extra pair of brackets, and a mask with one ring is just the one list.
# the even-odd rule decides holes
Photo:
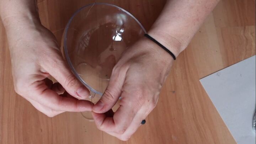
[(255, 26), (216, 28), (223, 66), (255, 55)]

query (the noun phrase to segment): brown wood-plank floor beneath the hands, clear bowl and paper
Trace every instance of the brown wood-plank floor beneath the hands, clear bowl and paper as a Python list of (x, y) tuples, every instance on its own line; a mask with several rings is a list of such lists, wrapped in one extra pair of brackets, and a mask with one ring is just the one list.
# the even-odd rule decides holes
[[(39, 0), (44, 26), (60, 42), (70, 16), (81, 6), (108, 2), (131, 12), (149, 30), (165, 0)], [(230, 144), (228, 128), (199, 79), (255, 55), (255, 0), (222, 0), (175, 61), (146, 124), (127, 142), (97, 130), (80, 113), (54, 118), (15, 94), (9, 50), (0, 22), (1, 144)]]

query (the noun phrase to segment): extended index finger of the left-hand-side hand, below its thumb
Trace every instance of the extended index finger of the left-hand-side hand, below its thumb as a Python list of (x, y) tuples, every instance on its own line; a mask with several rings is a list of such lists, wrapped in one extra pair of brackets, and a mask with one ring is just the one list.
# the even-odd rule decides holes
[(62, 97), (50, 89), (45, 89), (36, 93), (36, 95), (37, 97), (31, 97), (31, 99), (54, 111), (82, 112), (91, 111), (92, 109), (90, 101)]

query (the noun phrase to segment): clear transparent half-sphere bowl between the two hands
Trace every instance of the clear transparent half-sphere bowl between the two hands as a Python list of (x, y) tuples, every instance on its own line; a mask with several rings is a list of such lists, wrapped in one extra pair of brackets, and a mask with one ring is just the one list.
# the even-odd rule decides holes
[(145, 33), (132, 14), (112, 4), (86, 5), (70, 18), (61, 50), (76, 78), (91, 91), (90, 101), (100, 99), (121, 54)]

